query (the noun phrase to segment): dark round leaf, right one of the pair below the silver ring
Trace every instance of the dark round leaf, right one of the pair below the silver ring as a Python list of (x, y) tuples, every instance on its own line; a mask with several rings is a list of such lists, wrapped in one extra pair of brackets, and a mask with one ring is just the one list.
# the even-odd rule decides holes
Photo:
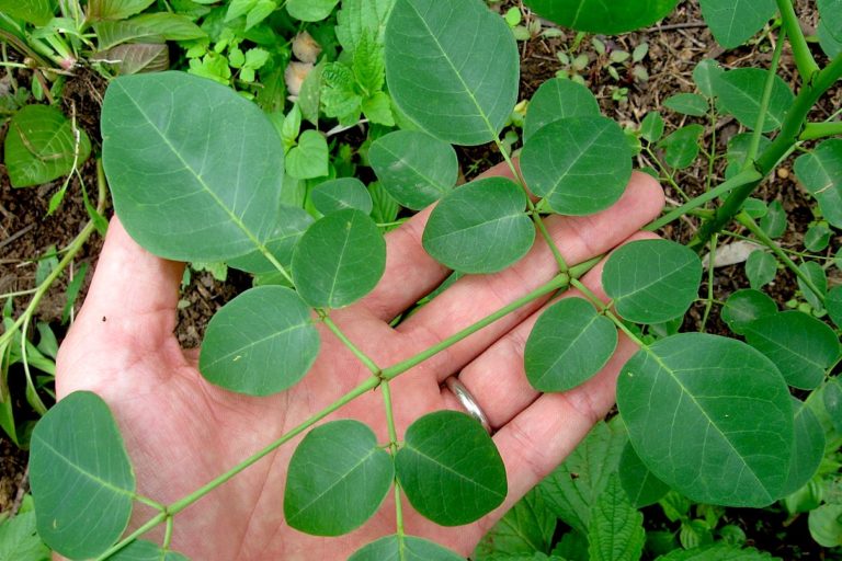
[(395, 469), (407, 499), (426, 518), (442, 526), (469, 524), (505, 499), (503, 460), (475, 419), (437, 411), (409, 425), (405, 438)]

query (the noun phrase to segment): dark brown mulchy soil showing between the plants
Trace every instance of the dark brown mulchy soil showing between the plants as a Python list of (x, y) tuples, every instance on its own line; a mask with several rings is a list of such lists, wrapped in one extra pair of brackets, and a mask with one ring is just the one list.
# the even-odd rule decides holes
[[(813, 2), (798, 0), (797, 3), (799, 14), (810, 14), (806, 18), (808, 26), (815, 25)], [(500, 5), (501, 10), (505, 10), (515, 4), (516, 2), (508, 0)], [(535, 16), (527, 13), (525, 23), (528, 23), (532, 18)], [(536, 37), (521, 44), (521, 99), (528, 99), (541, 83), (553, 78), (556, 72), (562, 69), (558, 54), (568, 51), (574, 37), (576, 34), (562, 31), (557, 37)], [(696, 2), (683, 2), (675, 13), (661, 22), (659, 26), (618, 38), (603, 38), (608, 53), (614, 49), (630, 53), (638, 45), (648, 44), (648, 56), (640, 62), (649, 75), (649, 79), (646, 81), (634, 78), (632, 65), (615, 65), (619, 71), (619, 80), (613, 79), (606, 71), (607, 55), (596, 55), (596, 51), (588, 43), (589, 41), (590, 38), (585, 39), (579, 50), (580, 53), (588, 53), (591, 58), (591, 64), (583, 73), (583, 78), (598, 95), (603, 112), (621, 124), (628, 126), (639, 124), (651, 107), (659, 106), (670, 95), (693, 91), (692, 71), (703, 58), (716, 58), (720, 64), (735, 68), (749, 64), (764, 64), (771, 59), (771, 53), (765, 47), (767, 42), (759, 42), (724, 53), (702, 23)], [(820, 62), (823, 61), (818, 49), (815, 49), (815, 53), (819, 56)], [(781, 76), (785, 80), (792, 81), (793, 68), (792, 56), (785, 50)], [(24, 83), (31, 79), (26, 72), (19, 73), (21, 76), (18, 79)], [(90, 71), (81, 71), (67, 80), (61, 96), (65, 112), (68, 115), (76, 115), (77, 123), (90, 136), (95, 152), (101, 148), (99, 113), (105, 83), (101, 77)], [(612, 94), (618, 88), (627, 88), (628, 91), (624, 96), (621, 96), (619, 101), (615, 101)], [(826, 118), (840, 106), (842, 106), (842, 88), (837, 88), (822, 100), (816, 110), (816, 116)], [(702, 119), (682, 117), (669, 111), (663, 111), (662, 114), (668, 122), (668, 129), (674, 129), (691, 122), (707, 125)], [(738, 125), (732, 119), (726, 118), (717, 123), (716, 128), (718, 130), (716, 149), (724, 151), (728, 139), (738, 133)], [(5, 130), (0, 129), (0, 144), (4, 139), (4, 134)], [(459, 149), (459, 159), (463, 174), (467, 180), (502, 160), (497, 149), (490, 146)], [(640, 167), (650, 163), (645, 157), (639, 158), (638, 164)], [(813, 219), (810, 201), (793, 179), (792, 162), (786, 162), (782, 169), (783, 172), (766, 181), (762, 197), (765, 201), (777, 198), (783, 203), (789, 221), (788, 229), (781, 242), (785, 248), (801, 250), (804, 233)], [(81, 171), (88, 192), (95, 193), (96, 170), (93, 161), (87, 162)], [(683, 172), (681, 183), (686, 194), (692, 197), (704, 192), (707, 174), (707, 168), (702, 164)], [(715, 182), (721, 180), (724, 162), (717, 163), (714, 174)], [(68, 196), (58, 211), (53, 216), (46, 216), (49, 196), (59, 186), (60, 182), (53, 182), (37, 188), (13, 190), (9, 184), (4, 167), (0, 164), (0, 294), (34, 287), (38, 259), (49, 252), (52, 248), (67, 245), (89, 219), (82, 204), (82, 186), (78, 179), (72, 180)], [(674, 192), (669, 186), (667, 186), (667, 195), (668, 199), (673, 203), (680, 202), (682, 197), (680, 193)], [(106, 215), (109, 213), (110, 209), (106, 210)], [(686, 241), (692, 237), (696, 225), (692, 220), (682, 220), (668, 227), (663, 231), (663, 236)], [(840, 238), (832, 240), (827, 253), (828, 256), (835, 254), (840, 248), (840, 241), (842, 241)], [(88, 264), (88, 277), (90, 277), (101, 244), (102, 240), (94, 236), (75, 262), (73, 270), (78, 271), (82, 264)], [(839, 284), (842, 282), (837, 267), (831, 267), (830, 273), (831, 283)], [(190, 283), (183, 288), (177, 334), (184, 346), (195, 347), (200, 344), (205, 325), (214, 312), (239, 291), (250, 286), (250, 279), (246, 275), (232, 271), (225, 283), (214, 279), (209, 273), (204, 272), (193, 272), (190, 276)], [(84, 297), (89, 279), (84, 280), (78, 302), (81, 302)], [(744, 276), (742, 265), (722, 267), (716, 271), (714, 294), (718, 300), (724, 300), (733, 290), (747, 286), (748, 279)], [(38, 321), (48, 322), (53, 327), (59, 341), (66, 331), (66, 327), (60, 323), (61, 311), (67, 301), (66, 289), (67, 278), (62, 277), (42, 301), (36, 314)], [(703, 285), (703, 290), (706, 289), (706, 285)], [(788, 272), (782, 271), (774, 284), (766, 288), (766, 291), (783, 307), (785, 302), (796, 296), (795, 278)], [(25, 307), (27, 299), (27, 296), (15, 298), (15, 314)], [(701, 305), (694, 306), (684, 328), (686, 330), (697, 329), (703, 312)], [(716, 312), (712, 314), (707, 330), (714, 333), (730, 334)], [(14, 370), (11, 371), (10, 378), (14, 379), (18, 374)], [(22, 392), (18, 392), (18, 396), (21, 394)], [(15, 404), (24, 417), (33, 416), (32, 412), (27, 411), (25, 403)], [(14, 510), (19, 504), (21, 493), (25, 490), (25, 478), (23, 477), (25, 466), (25, 451), (18, 449), (4, 435), (0, 434), (0, 512)], [(759, 519), (758, 517), (764, 516), (764, 513), (766, 511), (735, 511), (732, 514), (736, 517), (735, 522), (743, 527), (750, 539), (754, 540), (758, 546), (784, 559), (822, 559), (821, 548), (815, 546), (808, 534), (805, 534), (804, 539), (800, 540), (800, 551), (797, 554), (794, 551), (780, 550), (782, 546), (775, 535), (782, 529), (782, 520)], [(796, 524), (800, 523), (796, 520)]]

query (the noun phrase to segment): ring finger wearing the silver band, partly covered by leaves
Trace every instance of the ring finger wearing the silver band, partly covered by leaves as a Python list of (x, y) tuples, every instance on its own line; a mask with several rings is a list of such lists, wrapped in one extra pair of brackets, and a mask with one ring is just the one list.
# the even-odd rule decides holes
[[(641, 232), (626, 242), (657, 238), (653, 233)], [(605, 260), (591, 270), (582, 278), (582, 283), (603, 302), (607, 302), (608, 297), (603, 291), (601, 283), (604, 264)], [(561, 296), (561, 298), (570, 297), (583, 297), (583, 295), (573, 289)], [(541, 394), (526, 378), (524, 350), (535, 322), (548, 306), (549, 304), (526, 318), (459, 373), (459, 381), (474, 396), (493, 428), (507, 424)], [(442, 390), (442, 398), (448, 405), (458, 404), (456, 398), (446, 388)]]

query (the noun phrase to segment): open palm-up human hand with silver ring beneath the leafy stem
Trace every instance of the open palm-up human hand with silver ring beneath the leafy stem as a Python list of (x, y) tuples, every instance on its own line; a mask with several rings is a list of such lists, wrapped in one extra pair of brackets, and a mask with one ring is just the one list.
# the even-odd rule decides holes
[[(501, 168), (490, 174), (504, 175)], [(612, 208), (590, 217), (550, 217), (550, 234), (569, 264), (602, 254), (656, 217), (663, 195), (635, 174)], [(514, 266), (466, 276), (396, 329), (388, 321), (433, 290), (448, 271), (421, 247), (429, 209), (387, 234), (386, 273), (362, 301), (331, 312), (342, 331), (378, 365), (389, 366), (537, 288), (556, 274), (543, 241)], [(638, 234), (639, 236), (639, 234)], [(600, 270), (583, 282), (604, 298)], [(112, 220), (84, 306), (58, 357), (56, 389), (99, 393), (111, 407), (132, 458), (138, 492), (163, 504), (191, 493), (322, 410), (371, 373), (323, 325), (321, 353), (297, 386), (269, 398), (231, 393), (207, 382), (197, 354), (173, 335), (183, 264), (156, 257)], [(568, 293), (571, 294), (571, 293)], [(576, 447), (614, 402), (619, 367), (635, 352), (621, 334), (614, 357), (591, 380), (566, 393), (539, 394), (523, 371), (523, 350), (537, 310), (534, 301), (391, 382), (399, 437), (419, 416), (462, 410), (442, 382), (457, 373), (496, 430), (509, 480), (505, 502), (477, 523), (440, 527), (405, 504), (405, 527), (466, 556), (524, 493)], [(329, 419), (356, 419), (386, 435), (379, 391)], [(175, 517), (172, 548), (207, 561), (346, 559), (364, 543), (395, 533), (391, 495), (363, 527), (341, 538), (317, 538), (284, 523), (288, 443)], [(146, 519), (136, 510), (135, 523)]]

